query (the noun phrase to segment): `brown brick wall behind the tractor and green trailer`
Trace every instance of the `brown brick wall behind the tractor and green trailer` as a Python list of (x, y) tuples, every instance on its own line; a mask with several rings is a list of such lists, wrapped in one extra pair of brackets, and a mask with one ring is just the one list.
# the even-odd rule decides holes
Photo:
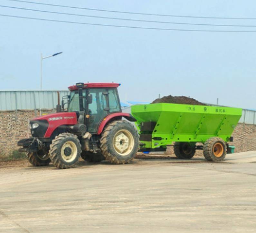
[[(43, 110), (43, 112), (53, 112), (53, 110)], [(17, 141), (27, 137), (28, 120), (40, 115), (39, 111), (18, 110), (0, 111), (0, 155), (8, 155), (13, 150), (18, 149)], [(232, 136), (235, 152), (256, 150), (256, 125), (238, 124)], [(168, 148), (168, 153), (173, 153), (172, 147)], [(196, 152), (198, 155), (202, 151)]]

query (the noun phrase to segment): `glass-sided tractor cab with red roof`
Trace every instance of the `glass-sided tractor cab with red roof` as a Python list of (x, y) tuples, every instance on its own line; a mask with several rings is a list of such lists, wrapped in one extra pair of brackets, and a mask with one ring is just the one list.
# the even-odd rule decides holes
[(122, 112), (117, 91), (119, 85), (118, 83), (77, 83), (70, 86), (70, 95), (66, 102), (67, 112), (77, 112), (79, 123), (85, 124), (91, 134), (97, 133), (100, 122), (106, 116), (110, 113)]

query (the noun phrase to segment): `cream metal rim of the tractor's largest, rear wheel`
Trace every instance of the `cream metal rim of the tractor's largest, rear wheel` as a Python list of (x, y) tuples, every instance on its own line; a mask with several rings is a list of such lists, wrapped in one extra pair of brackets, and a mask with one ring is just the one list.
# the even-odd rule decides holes
[(113, 146), (115, 151), (121, 155), (126, 156), (134, 148), (134, 139), (130, 131), (119, 130), (113, 138)]

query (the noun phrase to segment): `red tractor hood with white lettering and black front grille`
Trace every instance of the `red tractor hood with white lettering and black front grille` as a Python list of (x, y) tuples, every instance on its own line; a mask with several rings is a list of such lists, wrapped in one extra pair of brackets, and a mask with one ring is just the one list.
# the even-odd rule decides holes
[[(52, 135), (52, 132), (61, 126), (66, 125), (76, 125), (77, 124), (77, 115), (75, 112), (57, 112), (53, 114), (47, 114), (44, 116), (36, 117), (33, 120), (30, 121), (31, 125), (33, 123), (38, 123), (39, 126), (37, 128), (37, 131), (43, 131), (44, 136), (41, 135), (43, 138), (50, 138)], [(42, 130), (42, 129), (45, 130)], [(36, 130), (33, 130), (34, 133), (36, 133)], [(33, 135), (33, 133), (32, 133)], [(39, 137), (36, 135), (33, 135), (33, 137)]]

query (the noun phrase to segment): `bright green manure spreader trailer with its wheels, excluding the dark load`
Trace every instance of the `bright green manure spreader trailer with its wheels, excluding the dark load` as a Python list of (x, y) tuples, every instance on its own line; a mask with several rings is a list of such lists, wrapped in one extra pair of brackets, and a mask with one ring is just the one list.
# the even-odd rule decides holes
[(201, 149), (207, 160), (217, 162), (233, 152), (228, 142), (242, 109), (154, 103), (133, 105), (131, 113), (140, 133), (139, 151), (166, 151), (174, 142), (177, 158), (190, 159)]

